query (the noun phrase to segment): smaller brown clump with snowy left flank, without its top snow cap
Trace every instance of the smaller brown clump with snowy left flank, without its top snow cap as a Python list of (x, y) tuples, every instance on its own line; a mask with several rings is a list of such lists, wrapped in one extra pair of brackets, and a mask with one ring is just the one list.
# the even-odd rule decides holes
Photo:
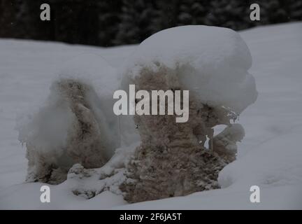
[(101, 167), (115, 148), (91, 85), (60, 79), (50, 90), (45, 106), (19, 128), (27, 146), (27, 181), (61, 183), (74, 163)]

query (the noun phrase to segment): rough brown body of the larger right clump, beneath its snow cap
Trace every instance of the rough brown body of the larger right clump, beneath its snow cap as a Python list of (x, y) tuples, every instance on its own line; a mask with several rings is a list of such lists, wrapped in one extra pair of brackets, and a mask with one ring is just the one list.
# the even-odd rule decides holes
[[(148, 92), (182, 90), (175, 70), (165, 66), (156, 72), (147, 66), (132, 81), (137, 90)], [(143, 202), (219, 188), (218, 172), (229, 160), (221, 159), (213, 153), (214, 149), (207, 149), (204, 144), (207, 137), (213, 139), (213, 127), (230, 125), (229, 114), (226, 109), (212, 108), (190, 97), (187, 123), (176, 123), (176, 116), (172, 115), (134, 116), (141, 145), (126, 167), (127, 180), (121, 186), (125, 200)], [(234, 137), (236, 134), (224, 134), (225, 141), (236, 147)], [(227, 148), (220, 144), (219, 150), (223, 154)], [(236, 152), (228, 154), (236, 156)]]

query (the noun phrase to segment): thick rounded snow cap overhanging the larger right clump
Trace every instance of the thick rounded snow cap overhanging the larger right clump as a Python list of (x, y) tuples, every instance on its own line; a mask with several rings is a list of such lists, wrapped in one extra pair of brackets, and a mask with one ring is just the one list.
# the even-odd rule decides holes
[(159, 65), (176, 69), (180, 83), (201, 102), (240, 113), (257, 99), (252, 57), (232, 29), (190, 25), (159, 31), (143, 41), (125, 67), (127, 76)]

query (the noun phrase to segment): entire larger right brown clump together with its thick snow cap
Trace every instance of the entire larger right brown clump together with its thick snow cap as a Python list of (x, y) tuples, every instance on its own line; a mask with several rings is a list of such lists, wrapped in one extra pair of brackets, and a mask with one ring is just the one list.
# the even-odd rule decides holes
[[(213, 127), (231, 125), (236, 119), (232, 112), (240, 113), (257, 98), (253, 79), (241, 89), (252, 62), (245, 42), (235, 31), (220, 27), (174, 27), (150, 36), (132, 57), (122, 85), (135, 84), (149, 94), (189, 87), (191, 97), (187, 123), (175, 123), (175, 116), (134, 116), (141, 145), (126, 167), (127, 181), (121, 186), (125, 200), (143, 202), (219, 188), (217, 174), (236, 159), (236, 142), (244, 130), (238, 124), (227, 127), (213, 141)], [(204, 92), (206, 76), (213, 81)], [(201, 85), (198, 93), (196, 85)]]

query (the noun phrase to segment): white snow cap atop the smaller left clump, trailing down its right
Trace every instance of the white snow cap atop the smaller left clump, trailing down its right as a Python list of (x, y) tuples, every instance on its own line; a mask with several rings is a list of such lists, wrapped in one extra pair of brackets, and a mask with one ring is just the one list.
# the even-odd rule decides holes
[[(59, 79), (80, 80), (92, 85), (98, 96), (98, 104), (92, 105), (96, 111), (101, 111), (105, 116), (104, 122), (110, 129), (108, 132), (113, 141), (120, 142), (118, 118), (113, 113), (113, 93), (120, 88), (120, 79), (115, 67), (111, 66), (106, 59), (92, 53), (82, 53), (64, 62), (58, 69)], [(89, 102), (93, 104), (96, 99), (90, 94)], [(119, 144), (117, 144), (117, 147)]]

